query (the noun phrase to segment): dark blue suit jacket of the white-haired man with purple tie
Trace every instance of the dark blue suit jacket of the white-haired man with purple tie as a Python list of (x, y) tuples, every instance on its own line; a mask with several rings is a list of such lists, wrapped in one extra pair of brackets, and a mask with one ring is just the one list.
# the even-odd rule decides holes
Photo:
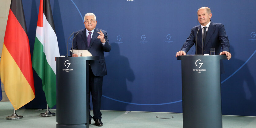
[[(104, 46), (101, 43), (101, 40), (97, 39), (99, 35), (97, 32), (99, 32), (100, 30), (101, 32), (104, 33), (105, 40), (106, 40), (106, 43)], [(111, 50), (107, 32), (102, 29), (95, 28), (91, 42), (90, 42), (90, 47), (88, 47), (88, 43), (87, 43), (86, 28), (75, 32), (74, 36), (77, 33), (78, 35), (73, 40), (73, 48), (88, 50), (93, 56), (99, 56), (100, 57), (99, 60), (90, 61), (90, 66), (95, 76), (105, 76), (107, 74), (107, 67), (105, 63), (104, 51), (109, 52)]]

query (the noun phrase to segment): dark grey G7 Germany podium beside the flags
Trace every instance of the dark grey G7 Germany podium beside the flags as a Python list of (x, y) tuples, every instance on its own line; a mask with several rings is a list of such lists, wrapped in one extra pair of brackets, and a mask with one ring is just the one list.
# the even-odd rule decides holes
[(92, 57), (56, 57), (57, 128), (89, 128), (88, 68)]

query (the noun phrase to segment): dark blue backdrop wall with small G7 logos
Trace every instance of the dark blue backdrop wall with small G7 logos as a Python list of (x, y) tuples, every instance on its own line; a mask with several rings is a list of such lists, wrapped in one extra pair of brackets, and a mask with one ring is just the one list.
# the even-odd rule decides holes
[[(212, 10), (230, 41), (231, 60), (221, 75), (222, 113), (256, 116), (255, 0), (50, 0), (60, 55), (67, 38), (84, 28), (85, 13), (97, 17), (112, 50), (105, 53), (102, 110), (182, 112), (181, 61), (175, 54), (196, 26), (197, 9)], [(33, 52), (39, 0), (23, 0)], [(72, 38), (71, 38), (72, 39)], [(191, 48), (188, 54), (194, 54)], [(45, 108), (41, 81), (34, 72), (36, 98), (23, 108)]]

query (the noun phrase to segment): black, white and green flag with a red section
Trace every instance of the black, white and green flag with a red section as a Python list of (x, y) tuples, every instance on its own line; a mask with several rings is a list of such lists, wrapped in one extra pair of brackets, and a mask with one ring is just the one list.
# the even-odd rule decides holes
[(56, 62), (59, 47), (49, 0), (40, 0), (32, 66), (42, 79), (42, 89), (50, 108), (56, 105)]

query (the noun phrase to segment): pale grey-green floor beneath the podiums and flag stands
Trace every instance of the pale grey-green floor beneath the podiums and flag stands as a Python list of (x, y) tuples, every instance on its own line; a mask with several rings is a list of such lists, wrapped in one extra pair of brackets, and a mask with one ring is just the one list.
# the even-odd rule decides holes
[[(56, 113), (56, 110), (50, 111)], [(0, 128), (55, 128), (56, 116), (40, 117), (39, 114), (43, 112), (45, 110), (19, 109), (16, 113), (22, 115), (23, 119), (6, 120), (7, 116), (13, 114), (13, 107), (10, 102), (0, 102)], [(101, 112), (102, 128), (182, 128), (182, 114), (177, 113)], [(156, 116), (170, 119), (159, 119)], [(223, 128), (256, 128), (256, 117), (223, 116), (222, 118)], [(97, 126), (92, 122), (90, 127)]]

